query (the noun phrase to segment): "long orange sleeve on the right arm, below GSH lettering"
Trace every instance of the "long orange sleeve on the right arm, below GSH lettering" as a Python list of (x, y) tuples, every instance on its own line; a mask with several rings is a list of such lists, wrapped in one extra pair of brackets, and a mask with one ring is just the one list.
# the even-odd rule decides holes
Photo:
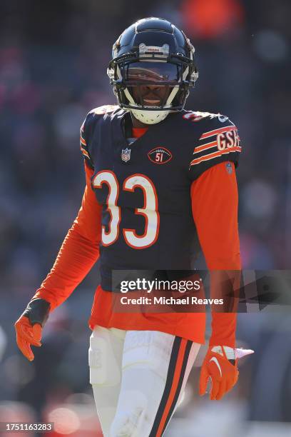
[[(233, 163), (205, 171), (191, 186), (192, 212), (210, 271), (240, 271), (238, 187)], [(219, 273), (218, 273), (219, 274)], [(215, 282), (215, 281), (214, 281)], [(213, 295), (213, 278), (211, 289)], [(217, 297), (217, 294), (216, 296)], [(212, 313), (210, 346), (235, 346), (236, 313)]]

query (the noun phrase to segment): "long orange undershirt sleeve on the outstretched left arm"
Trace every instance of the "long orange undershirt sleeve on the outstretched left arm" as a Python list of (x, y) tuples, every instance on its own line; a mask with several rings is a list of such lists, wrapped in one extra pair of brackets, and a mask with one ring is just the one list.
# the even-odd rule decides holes
[(88, 165), (81, 209), (63, 241), (50, 273), (34, 298), (51, 303), (51, 311), (61, 305), (96, 263), (101, 241), (101, 205), (91, 189), (93, 175)]

